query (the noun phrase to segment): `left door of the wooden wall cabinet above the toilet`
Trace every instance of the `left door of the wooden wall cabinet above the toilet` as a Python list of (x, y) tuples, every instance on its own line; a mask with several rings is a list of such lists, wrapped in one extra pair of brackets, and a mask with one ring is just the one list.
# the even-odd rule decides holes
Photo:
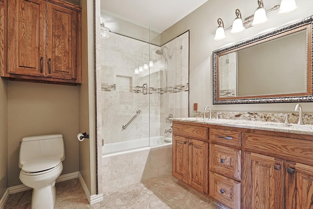
[(44, 76), (45, 1), (7, 0), (7, 72)]

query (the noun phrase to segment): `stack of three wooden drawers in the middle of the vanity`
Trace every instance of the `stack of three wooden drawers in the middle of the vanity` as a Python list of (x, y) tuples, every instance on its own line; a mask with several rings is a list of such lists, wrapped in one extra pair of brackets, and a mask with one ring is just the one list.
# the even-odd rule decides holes
[(240, 209), (241, 132), (209, 130), (209, 195), (231, 209)]

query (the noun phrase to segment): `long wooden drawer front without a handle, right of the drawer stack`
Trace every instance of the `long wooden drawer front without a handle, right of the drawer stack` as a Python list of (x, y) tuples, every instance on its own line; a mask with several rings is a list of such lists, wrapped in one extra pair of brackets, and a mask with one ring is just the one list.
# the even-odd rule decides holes
[(313, 141), (246, 133), (246, 148), (313, 165)]

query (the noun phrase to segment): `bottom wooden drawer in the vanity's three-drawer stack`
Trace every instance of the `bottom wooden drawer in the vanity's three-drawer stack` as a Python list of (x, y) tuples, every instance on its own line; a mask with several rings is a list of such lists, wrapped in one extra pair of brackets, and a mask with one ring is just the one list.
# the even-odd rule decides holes
[(222, 202), (231, 209), (240, 209), (240, 186), (239, 182), (210, 172), (210, 196)]

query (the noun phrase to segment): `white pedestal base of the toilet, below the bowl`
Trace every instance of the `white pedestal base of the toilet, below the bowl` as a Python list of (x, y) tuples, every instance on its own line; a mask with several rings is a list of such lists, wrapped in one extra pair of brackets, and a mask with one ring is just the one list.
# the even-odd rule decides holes
[(42, 188), (33, 188), (31, 209), (53, 209), (55, 205), (55, 181)]

